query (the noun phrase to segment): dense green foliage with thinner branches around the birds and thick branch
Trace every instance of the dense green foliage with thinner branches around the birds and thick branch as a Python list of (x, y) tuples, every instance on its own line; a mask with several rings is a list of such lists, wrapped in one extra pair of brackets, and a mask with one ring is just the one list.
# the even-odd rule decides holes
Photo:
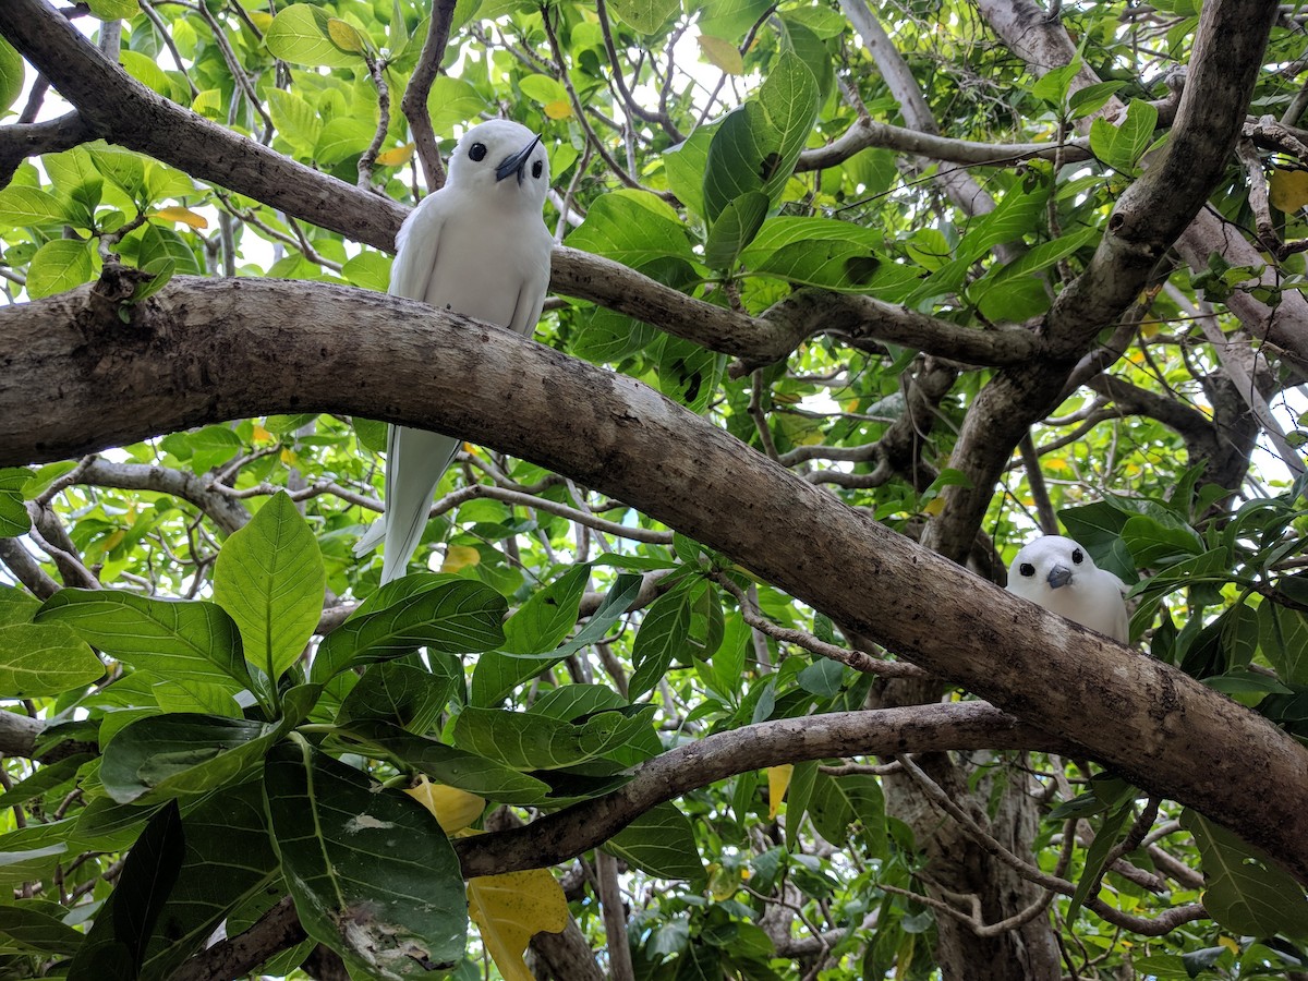
[[(442, 174), (412, 119), (449, 152), (506, 115), (549, 148), (569, 262), (617, 276), (556, 260), (538, 341), (994, 581), (1062, 530), (1133, 587), (1135, 646), (1301, 739), (1298, 13), (1175, 249), (1116, 306), (1137, 273), (1095, 272), (1194, 84), (1197, 7), (14, 0), (0, 285), (39, 309), (126, 276), (124, 331), (184, 277), (385, 290), (394, 226), (358, 216)], [(68, 21), (98, 54), (64, 77)], [(77, 88), (97, 58), (132, 98)], [(811, 749), (824, 715), (870, 739), (976, 700), (566, 473), (464, 445), (379, 586), (352, 547), (385, 445), (306, 412), (0, 470), (3, 976), (1308, 969), (1282, 857), (1075, 747)], [(527, 861), (477, 852), (553, 814)], [(220, 926), (254, 929), (245, 960), (201, 951)]]

